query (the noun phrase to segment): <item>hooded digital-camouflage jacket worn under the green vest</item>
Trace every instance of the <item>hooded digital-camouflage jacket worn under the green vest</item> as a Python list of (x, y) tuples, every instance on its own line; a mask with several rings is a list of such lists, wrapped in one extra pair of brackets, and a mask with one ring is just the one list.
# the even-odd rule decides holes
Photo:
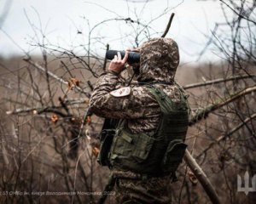
[[(171, 38), (154, 38), (140, 47), (141, 61), (137, 84), (117, 89), (119, 77), (105, 72), (96, 82), (90, 108), (96, 116), (127, 119), (132, 133), (154, 131), (160, 121), (160, 106), (144, 84), (155, 84), (174, 101), (180, 100), (174, 82), (179, 63), (177, 43)], [(116, 90), (116, 91), (114, 91)], [(121, 93), (123, 90), (126, 94)]]

